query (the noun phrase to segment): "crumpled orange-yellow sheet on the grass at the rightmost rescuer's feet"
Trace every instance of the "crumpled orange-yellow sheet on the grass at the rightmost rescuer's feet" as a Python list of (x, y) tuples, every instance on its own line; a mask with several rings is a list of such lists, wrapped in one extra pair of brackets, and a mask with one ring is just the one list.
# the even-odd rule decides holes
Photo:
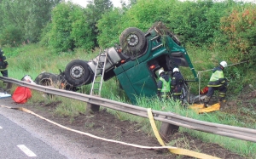
[(220, 104), (216, 103), (214, 105), (208, 106), (207, 108), (204, 107), (204, 104), (193, 104), (193, 105), (190, 105), (189, 108), (195, 110), (195, 112), (200, 114), (204, 112), (219, 111)]

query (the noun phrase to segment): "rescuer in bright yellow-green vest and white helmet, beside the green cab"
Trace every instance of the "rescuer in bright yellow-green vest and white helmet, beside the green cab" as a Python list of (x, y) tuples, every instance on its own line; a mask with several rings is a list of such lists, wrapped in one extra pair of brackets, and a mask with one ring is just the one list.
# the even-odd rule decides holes
[(159, 81), (157, 82), (157, 95), (160, 99), (166, 99), (170, 97), (172, 80), (163, 70), (160, 70), (158, 74)]

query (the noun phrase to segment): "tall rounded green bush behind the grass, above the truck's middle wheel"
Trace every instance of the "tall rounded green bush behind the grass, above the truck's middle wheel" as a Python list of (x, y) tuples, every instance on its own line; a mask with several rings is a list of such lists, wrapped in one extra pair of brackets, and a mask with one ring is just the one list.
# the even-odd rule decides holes
[(94, 36), (86, 22), (84, 10), (73, 3), (58, 4), (52, 11), (51, 23), (43, 33), (41, 43), (54, 49), (55, 53), (94, 47)]

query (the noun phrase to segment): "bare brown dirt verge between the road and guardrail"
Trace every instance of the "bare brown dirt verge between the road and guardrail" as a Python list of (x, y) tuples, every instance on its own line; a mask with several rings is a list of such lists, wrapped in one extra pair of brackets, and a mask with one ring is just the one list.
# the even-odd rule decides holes
[[(10, 105), (15, 105), (12, 100), (9, 101)], [(53, 103), (40, 103), (38, 105), (15, 105), (25, 107), (31, 111), (34, 111), (40, 116), (44, 116), (49, 120), (60, 123), (68, 128), (73, 128), (85, 133), (91, 133), (98, 137), (105, 139), (114, 139), (123, 141), (126, 143), (144, 145), (144, 146), (160, 146), (157, 139), (144, 133), (135, 122), (119, 121), (115, 116), (109, 114), (106, 110), (95, 112), (93, 114), (79, 114), (74, 118), (55, 116), (53, 112), (55, 108), (61, 104), (61, 101)], [(145, 150), (135, 148), (128, 145), (120, 145), (103, 141), (101, 139), (93, 139), (85, 137), (79, 133), (70, 132), (70, 137), (76, 142), (82, 143), (85, 147), (90, 148), (93, 151), (101, 151), (106, 156), (111, 158), (193, 158), (189, 156), (177, 156), (171, 154), (168, 150)], [(175, 133), (169, 139), (172, 141), (173, 146), (178, 148), (195, 150), (207, 155), (218, 156), (226, 159), (240, 159), (244, 158), (230, 150), (225, 150), (220, 145), (204, 143), (200, 139), (195, 139), (189, 136), (188, 133)]]

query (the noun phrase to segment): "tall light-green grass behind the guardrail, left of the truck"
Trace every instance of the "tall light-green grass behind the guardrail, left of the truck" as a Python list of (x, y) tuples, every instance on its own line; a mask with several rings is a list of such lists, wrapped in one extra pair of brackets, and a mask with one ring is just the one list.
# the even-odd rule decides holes
[(21, 79), (30, 75), (35, 79), (43, 71), (59, 74), (65, 70), (71, 60), (90, 60), (95, 54), (78, 50), (74, 53), (52, 54), (48, 48), (38, 44), (25, 45), (20, 48), (3, 48), (9, 62), (9, 77)]

